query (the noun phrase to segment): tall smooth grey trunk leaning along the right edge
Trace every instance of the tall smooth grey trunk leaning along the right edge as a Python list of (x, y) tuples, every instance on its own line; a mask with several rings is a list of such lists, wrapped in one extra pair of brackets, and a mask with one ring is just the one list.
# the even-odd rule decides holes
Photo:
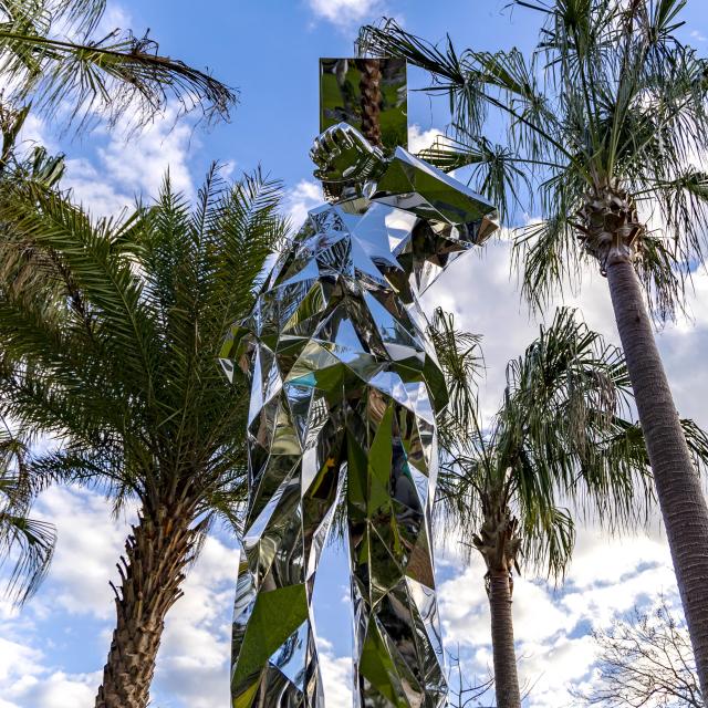
[(708, 696), (708, 506), (631, 262), (608, 262), (607, 281), (644, 430), (700, 686)]

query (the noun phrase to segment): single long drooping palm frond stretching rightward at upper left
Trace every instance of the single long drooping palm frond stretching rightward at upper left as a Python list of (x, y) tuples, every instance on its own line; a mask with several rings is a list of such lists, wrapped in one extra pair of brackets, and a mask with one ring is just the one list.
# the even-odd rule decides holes
[(171, 100), (184, 112), (199, 107), (209, 121), (228, 118), (237, 101), (232, 88), (209, 74), (160, 55), (148, 35), (116, 31), (75, 43), (0, 27), (0, 69), (17, 84), (11, 100), (32, 100), (50, 117), (70, 103), (70, 122), (79, 121), (80, 128), (98, 115), (115, 124), (128, 112), (142, 126)]

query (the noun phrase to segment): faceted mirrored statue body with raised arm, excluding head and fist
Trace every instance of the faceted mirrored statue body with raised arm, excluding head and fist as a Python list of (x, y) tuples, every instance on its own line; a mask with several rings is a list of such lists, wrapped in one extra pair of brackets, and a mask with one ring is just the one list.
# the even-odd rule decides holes
[(233, 622), (236, 708), (322, 707), (311, 598), (340, 503), (355, 704), (442, 706), (429, 544), (447, 394), (417, 295), (496, 228), (491, 207), (398, 148), (371, 201), (310, 211), (222, 350), (252, 376), (250, 498)]

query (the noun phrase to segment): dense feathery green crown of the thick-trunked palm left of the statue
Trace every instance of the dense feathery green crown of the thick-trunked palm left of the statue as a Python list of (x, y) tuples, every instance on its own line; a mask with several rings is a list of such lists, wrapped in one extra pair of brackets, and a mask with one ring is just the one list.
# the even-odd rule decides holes
[[(92, 221), (31, 185), (6, 197), (12, 278), (0, 326), (14, 367), (2, 400), (62, 440), (32, 460), (35, 475), (101, 476), (116, 500), (147, 504), (184, 483), (201, 497), (197, 513), (230, 514), (222, 494), (243, 469), (243, 404), (216, 357), (282, 235), (278, 198), (260, 175), (225, 190), (216, 170), (194, 212), (167, 180), (154, 207), (122, 222)], [(43, 282), (27, 272), (37, 269)]]

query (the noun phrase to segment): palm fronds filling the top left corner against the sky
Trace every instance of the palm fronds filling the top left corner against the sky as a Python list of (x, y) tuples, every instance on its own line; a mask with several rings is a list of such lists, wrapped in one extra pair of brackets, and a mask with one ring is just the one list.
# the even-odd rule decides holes
[(105, 0), (13, 0), (0, 8), (3, 103), (32, 103), (54, 117), (70, 106), (69, 122), (85, 127), (98, 116), (114, 124), (129, 113), (144, 125), (176, 101), (207, 118), (229, 115), (233, 90), (184, 62), (163, 56), (147, 34), (114, 30), (94, 37)]

